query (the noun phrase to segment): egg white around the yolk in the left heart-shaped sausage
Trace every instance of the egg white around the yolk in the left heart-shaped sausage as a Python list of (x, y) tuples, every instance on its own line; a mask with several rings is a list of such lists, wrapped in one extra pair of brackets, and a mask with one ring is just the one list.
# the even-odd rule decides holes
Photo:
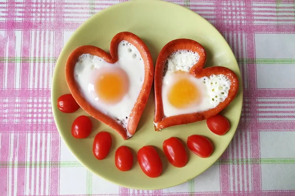
[[(111, 68), (121, 68), (129, 78), (129, 89), (124, 97), (115, 104), (104, 103), (94, 93), (91, 80), (95, 73)], [(115, 119), (124, 128), (127, 119), (142, 89), (145, 80), (145, 65), (138, 49), (127, 41), (118, 44), (118, 62), (110, 64), (99, 56), (82, 54), (74, 68), (75, 81), (81, 95), (95, 109)], [(127, 131), (128, 134), (128, 131)]]

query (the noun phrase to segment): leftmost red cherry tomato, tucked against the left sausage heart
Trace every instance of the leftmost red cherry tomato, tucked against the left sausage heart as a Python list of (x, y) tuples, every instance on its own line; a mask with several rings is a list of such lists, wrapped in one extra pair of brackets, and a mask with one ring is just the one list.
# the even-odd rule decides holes
[(79, 105), (71, 94), (65, 94), (58, 98), (58, 108), (63, 113), (73, 113), (79, 109)]

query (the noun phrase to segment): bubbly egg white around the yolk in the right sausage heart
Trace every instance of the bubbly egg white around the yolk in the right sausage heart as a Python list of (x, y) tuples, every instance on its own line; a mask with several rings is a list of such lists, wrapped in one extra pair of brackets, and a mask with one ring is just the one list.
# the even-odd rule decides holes
[(225, 75), (212, 74), (209, 77), (195, 78), (190, 74), (185, 74), (185, 78), (191, 81), (199, 90), (201, 101), (185, 108), (177, 108), (169, 102), (169, 91), (179, 79), (175, 73), (177, 71), (188, 73), (191, 67), (199, 61), (199, 58), (198, 53), (190, 50), (178, 50), (167, 58), (166, 73), (163, 76), (162, 83), (162, 102), (166, 117), (207, 111), (216, 107), (228, 97), (231, 81)]

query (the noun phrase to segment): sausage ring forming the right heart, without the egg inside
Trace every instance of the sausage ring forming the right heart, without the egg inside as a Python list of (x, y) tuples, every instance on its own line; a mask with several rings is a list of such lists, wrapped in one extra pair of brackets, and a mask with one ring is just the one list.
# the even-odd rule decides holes
[[(162, 95), (162, 85), (163, 78), (165, 72), (167, 70), (168, 58), (170, 58), (171, 54), (176, 54), (176, 52), (187, 51), (190, 54), (199, 54), (199, 59), (196, 63), (192, 64), (190, 69), (187, 70), (187, 74), (189, 76), (193, 76), (192, 78), (202, 78), (210, 77), (216, 75), (224, 75), (227, 81), (230, 80), (230, 89), (228, 90), (227, 98), (225, 98), (222, 102), (220, 102), (216, 107), (209, 108), (204, 111), (199, 112), (190, 112), (180, 115), (165, 115), (163, 108), (163, 96)], [(179, 51), (178, 51), (179, 53)], [(154, 90), (155, 90), (155, 117), (154, 117), (154, 126), (155, 130), (158, 131), (162, 128), (166, 128), (169, 126), (179, 125), (179, 124), (187, 124), (193, 123), (197, 121), (205, 120), (211, 116), (218, 114), (222, 111), (227, 105), (231, 103), (231, 101), (236, 97), (236, 93), (238, 91), (238, 79), (236, 74), (228, 68), (225, 67), (209, 67), (203, 68), (207, 59), (206, 51), (201, 44), (194, 40), (190, 39), (177, 39), (166, 44), (163, 49), (160, 51), (156, 66), (155, 66), (155, 77), (154, 77)], [(179, 61), (180, 62), (180, 61)], [(165, 72), (164, 72), (165, 68)], [(169, 68), (168, 68), (169, 70)], [(163, 75), (164, 73), (164, 75)], [(218, 78), (218, 77), (217, 77)], [(227, 79), (228, 78), (228, 79)], [(204, 83), (206, 83), (204, 79)], [(217, 82), (216, 82), (217, 83)], [(212, 84), (212, 83), (211, 83)], [(219, 87), (221, 88), (221, 87)], [(212, 89), (214, 91), (214, 89)], [(223, 95), (223, 94), (222, 94)], [(215, 97), (214, 97), (215, 98)], [(212, 100), (214, 100), (212, 98)], [(216, 96), (217, 98), (217, 96)]]

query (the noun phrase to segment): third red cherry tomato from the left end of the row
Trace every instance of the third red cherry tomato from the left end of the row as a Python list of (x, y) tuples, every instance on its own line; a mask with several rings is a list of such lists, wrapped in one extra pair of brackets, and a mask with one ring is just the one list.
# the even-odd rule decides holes
[(93, 155), (102, 160), (106, 158), (112, 146), (112, 137), (109, 132), (101, 131), (96, 134), (93, 141)]

